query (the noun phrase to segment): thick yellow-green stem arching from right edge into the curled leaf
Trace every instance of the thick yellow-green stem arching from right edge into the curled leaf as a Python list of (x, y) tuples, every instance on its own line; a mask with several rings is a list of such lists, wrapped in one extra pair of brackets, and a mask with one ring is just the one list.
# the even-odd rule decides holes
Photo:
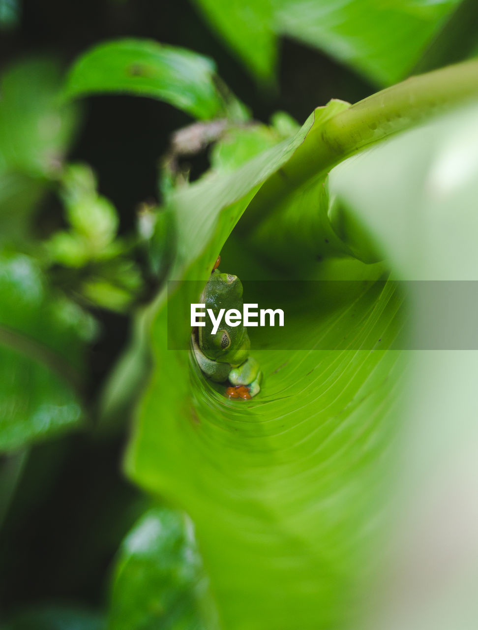
[[(411, 77), (315, 123), (307, 142), (262, 186), (244, 216), (244, 226), (263, 219), (306, 181), (392, 134), (410, 129), (478, 98), (478, 61)], [(314, 115), (320, 115), (321, 108)]]

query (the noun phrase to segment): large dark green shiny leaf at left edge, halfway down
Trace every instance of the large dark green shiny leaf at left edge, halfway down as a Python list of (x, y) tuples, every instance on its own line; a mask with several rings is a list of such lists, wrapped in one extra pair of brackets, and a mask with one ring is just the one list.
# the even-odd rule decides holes
[(78, 427), (83, 344), (94, 323), (54, 296), (25, 255), (3, 255), (0, 271), (0, 450)]

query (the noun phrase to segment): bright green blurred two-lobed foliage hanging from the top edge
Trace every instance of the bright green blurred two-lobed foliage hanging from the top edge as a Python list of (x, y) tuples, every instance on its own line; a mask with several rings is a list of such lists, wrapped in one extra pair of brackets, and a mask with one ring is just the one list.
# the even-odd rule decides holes
[(297, 38), (387, 85), (404, 78), (458, 0), (195, 0), (259, 80), (275, 76), (277, 38)]

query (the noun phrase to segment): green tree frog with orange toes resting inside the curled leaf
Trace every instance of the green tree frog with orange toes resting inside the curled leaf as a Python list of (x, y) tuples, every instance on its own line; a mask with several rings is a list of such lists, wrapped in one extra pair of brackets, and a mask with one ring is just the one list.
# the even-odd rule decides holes
[[(217, 263), (219, 264), (219, 263)], [(221, 273), (214, 268), (201, 297), (205, 309), (211, 309), (217, 318), (220, 309), (237, 309), (242, 312), (242, 283), (236, 275)], [(262, 372), (258, 362), (249, 357), (251, 342), (242, 325), (229, 326), (221, 321), (220, 328), (211, 334), (213, 324), (205, 317), (205, 326), (198, 326), (191, 341), (196, 360), (205, 375), (212, 381), (229, 380), (230, 398), (252, 398), (260, 391)]]

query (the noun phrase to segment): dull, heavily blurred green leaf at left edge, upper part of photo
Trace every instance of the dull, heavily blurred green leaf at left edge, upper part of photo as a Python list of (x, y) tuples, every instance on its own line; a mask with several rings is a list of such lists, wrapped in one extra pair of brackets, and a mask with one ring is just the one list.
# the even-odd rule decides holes
[(77, 112), (60, 105), (52, 60), (26, 60), (2, 74), (0, 101), (0, 242), (30, 234), (31, 212), (57, 177)]

